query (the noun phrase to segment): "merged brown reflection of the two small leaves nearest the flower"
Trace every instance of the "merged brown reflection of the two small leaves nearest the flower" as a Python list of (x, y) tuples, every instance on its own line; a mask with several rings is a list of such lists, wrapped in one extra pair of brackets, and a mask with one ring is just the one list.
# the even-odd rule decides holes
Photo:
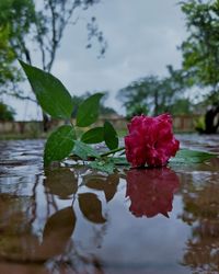
[(111, 174), (108, 176), (88, 176), (85, 178), (85, 185), (90, 189), (103, 191), (106, 202), (110, 202), (117, 191), (119, 183), (118, 174)]

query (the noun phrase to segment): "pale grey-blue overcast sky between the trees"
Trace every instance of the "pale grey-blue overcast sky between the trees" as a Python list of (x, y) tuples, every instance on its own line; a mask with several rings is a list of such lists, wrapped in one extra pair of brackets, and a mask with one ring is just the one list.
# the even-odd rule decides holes
[[(58, 50), (53, 73), (71, 94), (110, 91), (106, 105), (120, 114), (116, 92), (147, 75), (164, 76), (166, 65), (181, 65), (176, 49), (186, 36), (185, 22), (176, 0), (102, 0), (80, 13), (77, 25), (69, 25)], [(96, 16), (108, 43), (104, 58), (99, 47), (85, 49), (85, 22)], [(5, 100), (4, 100), (5, 101)], [(11, 104), (12, 100), (7, 100)], [(41, 112), (28, 102), (13, 100), (16, 119), (35, 119)]]

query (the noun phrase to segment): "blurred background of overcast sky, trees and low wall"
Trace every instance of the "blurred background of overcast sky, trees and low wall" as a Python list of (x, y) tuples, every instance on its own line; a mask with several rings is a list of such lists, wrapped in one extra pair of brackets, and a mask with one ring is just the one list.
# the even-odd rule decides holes
[(76, 105), (104, 92), (100, 121), (118, 129), (168, 112), (176, 132), (218, 132), (219, 1), (0, 0), (1, 138), (62, 123), (42, 112), (18, 59), (60, 79)]

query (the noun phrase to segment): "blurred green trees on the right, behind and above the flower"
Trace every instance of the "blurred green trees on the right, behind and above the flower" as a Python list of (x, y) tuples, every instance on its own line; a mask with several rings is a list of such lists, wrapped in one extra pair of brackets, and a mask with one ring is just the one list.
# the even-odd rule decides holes
[[(168, 66), (165, 78), (137, 79), (118, 91), (118, 99), (128, 117), (139, 113), (192, 114), (203, 110), (205, 119), (199, 130), (215, 134), (219, 128), (219, 1), (186, 0), (178, 4), (188, 33), (180, 46), (182, 68)], [(195, 87), (199, 90), (196, 93)], [(194, 98), (204, 89), (206, 95), (195, 102)]]

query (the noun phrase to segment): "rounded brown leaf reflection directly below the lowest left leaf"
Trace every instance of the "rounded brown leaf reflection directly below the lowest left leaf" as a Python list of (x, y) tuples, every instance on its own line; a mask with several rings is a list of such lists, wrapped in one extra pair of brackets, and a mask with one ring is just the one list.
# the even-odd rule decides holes
[(61, 199), (69, 198), (78, 191), (78, 181), (73, 172), (64, 168), (47, 170), (44, 185), (50, 194), (55, 194)]

